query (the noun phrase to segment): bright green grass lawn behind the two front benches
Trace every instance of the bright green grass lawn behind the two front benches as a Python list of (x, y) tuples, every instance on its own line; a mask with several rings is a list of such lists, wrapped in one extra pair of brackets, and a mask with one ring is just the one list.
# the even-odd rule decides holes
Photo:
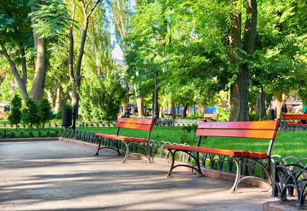
[[(158, 141), (179, 142), (179, 133), (181, 126), (159, 127), (154, 126), (150, 139)], [(84, 131), (95, 131), (96, 133), (116, 134), (117, 128), (77, 128)], [(278, 131), (275, 143), (273, 146), (272, 155), (277, 154), (282, 157), (295, 156), (298, 158), (307, 157), (307, 132), (283, 132)], [(146, 138), (146, 131), (120, 129), (120, 134), (124, 136)], [(209, 137), (206, 141), (202, 141), (202, 146), (227, 149), (227, 150), (242, 150), (253, 152), (267, 152), (269, 140), (263, 139), (244, 139), (244, 138), (219, 138)]]

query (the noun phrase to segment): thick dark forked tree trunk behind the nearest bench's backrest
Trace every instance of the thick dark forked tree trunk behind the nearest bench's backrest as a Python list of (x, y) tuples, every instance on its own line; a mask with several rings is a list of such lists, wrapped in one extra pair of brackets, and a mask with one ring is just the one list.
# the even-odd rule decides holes
[[(236, 4), (237, 0), (231, 3)], [(247, 53), (250, 59), (254, 53), (254, 43), (257, 28), (257, 3), (256, 0), (248, 0), (247, 19), (245, 22), (243, 44), (241, 45), (241, 21), (242, 15), (239, 11), (231, 14), (231, 25), (228, 31), (227, 43), (236, 51), (233, 54), (229, 51), (229, 60), (231, 64), (238, 64), (243, 58), (241, 48)], [(229, 121), (249, 121), (248, 114), (248, 89), (250, 69), (246, 62), (240, 65), (236, 80), (230, 86), (230, 112)]]

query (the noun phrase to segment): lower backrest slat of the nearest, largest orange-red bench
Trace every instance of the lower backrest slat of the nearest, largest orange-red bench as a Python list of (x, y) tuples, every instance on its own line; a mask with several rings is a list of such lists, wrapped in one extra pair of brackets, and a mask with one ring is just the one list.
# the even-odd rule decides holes
[[(205, 122), (205, 123), (207, 123), (207, 122)], [(198, 129), (196, 131), (195, 135), (196, 136), (275, 139), (276, 131), (265, 131), (265, 130), (210, 130), (210, 129), (202, 130), (202, 129)]]

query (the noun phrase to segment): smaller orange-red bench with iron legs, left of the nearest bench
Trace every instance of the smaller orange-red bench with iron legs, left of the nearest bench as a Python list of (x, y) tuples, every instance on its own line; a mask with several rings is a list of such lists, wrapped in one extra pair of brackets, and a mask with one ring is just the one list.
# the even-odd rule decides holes
[[(121, 155), (121, 153), (119, 151), (119, 141), (122, 141), (122, 142), (124, 142), (124, 144), (127, 147), (126, 155), (125, 155), (125, 158), (123, 159), (122, 163), (126, 162), (126, 159), (127, 159), (128, 156), (134, 155), (134, 154), (144, 156), (145, 158), (148, 159), (148, 162), (151, 162), (150, 151), (149, 151), (149, 137), (150, 137), (150, 133), (151, 133), (151, 129), (152, 129), (154, 121), (155, 120), (153, 120), (153, 119), (119, 118), (117, 120), (117, 123), (116, 123), (116, 127), (118, 128), (116, 135), (98, 134), (98, 133), (94, 134), (94, 136), (99, 137), (99, 146), (98, 146), (98, 150), (97, 150), (95, 155), (98, 156), (99, 150), (104, 149), (104, 148), (115, 150), (118, 153), (118, 155)], [(147, 138), (120, 136), (119, 130), (121, 128), (148, 131), (148, 135), (147, 135)], [(101, 146), (101, 143), (104, 141), (104, 139), (108, 139), (108, 140), (112, 141), (114, 143), (115, 147)], [(140, 154), (140, 153), (130, 153), (129, 154), (129, 145), (131, 143), (137, 143), (138, 145), (140, 145), (145, 150), (147, 155), (145, 156), (145, 155)]]

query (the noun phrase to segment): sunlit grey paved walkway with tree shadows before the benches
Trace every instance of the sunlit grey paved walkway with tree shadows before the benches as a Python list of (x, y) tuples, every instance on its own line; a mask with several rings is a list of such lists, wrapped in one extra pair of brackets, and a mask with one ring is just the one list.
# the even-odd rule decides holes
[(262, 210), (268, 192), (61, 141), (0, 143), (0, 210)]

